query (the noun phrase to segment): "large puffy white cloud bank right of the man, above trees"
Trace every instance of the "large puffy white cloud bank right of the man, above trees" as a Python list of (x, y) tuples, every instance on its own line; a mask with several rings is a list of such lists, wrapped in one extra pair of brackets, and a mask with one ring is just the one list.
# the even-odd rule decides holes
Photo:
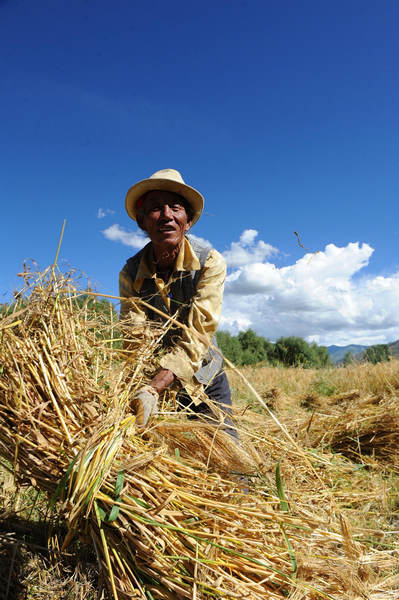
[(243, 247), (255, 252), (247, 262), (236, 252), (230, 262), (220, 328), (237, 333), (251, 327), (271, 340), (297, 335), (326, 345), (399, 338), (399, 273), (361, 276), (374, 252), (368, 244), (329, 244), (279, 268), (258, 259), (254, 233), (245, 231), (231, 246), (232, 253)]

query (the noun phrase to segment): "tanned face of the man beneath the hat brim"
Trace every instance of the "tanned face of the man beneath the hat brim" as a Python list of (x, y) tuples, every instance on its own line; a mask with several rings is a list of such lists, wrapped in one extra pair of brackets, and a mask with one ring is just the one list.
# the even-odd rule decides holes
[(155, 247), (170, 250), (180, 246), (191, 222), (180, 196), (155, 190), (146, 194), (142, 227)]

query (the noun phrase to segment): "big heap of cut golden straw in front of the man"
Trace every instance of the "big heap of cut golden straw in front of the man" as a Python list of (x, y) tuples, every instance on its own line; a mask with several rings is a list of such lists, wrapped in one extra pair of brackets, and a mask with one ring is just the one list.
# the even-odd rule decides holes
[(319, 486), (319, 506), (314, 489), (288, 502), (280, 463), (273, 492), (250, 441), (244, 450), (186, 421), (173, 393), (137, 431), (128, 399), (148, 380), (159, 331), (131, 328), (126, 354), (112, 313), (76, 296), (49, 269), (0, 320), (0, 453), (48, 493), (67, 523), (63, 548), (94, 546), (115, 599), (395, 597), (397, 554), (353, 538), (317, 459), (292, 439), (265, 436), (264, 449), (304, 489)]

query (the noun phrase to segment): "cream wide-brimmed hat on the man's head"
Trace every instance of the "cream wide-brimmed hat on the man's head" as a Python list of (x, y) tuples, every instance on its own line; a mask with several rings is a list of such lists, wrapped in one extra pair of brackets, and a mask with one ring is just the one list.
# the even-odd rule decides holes
[(201, 216), (204, 208), (204, 198), (194, 188), (184, 183), (183, 177), (176, 169), (161, 169), (156, 171), (148, 179), (143, 179), (132, 185), (126, 194), (126, 211), (129, 217), (136, 221), (137, 200), (146, 192), (152, 190), (162, 190), (166, 192), (174, 192), (180, 194), (189, 203), (193, 209), (194, 216), (192, 224), (194, 224)]

